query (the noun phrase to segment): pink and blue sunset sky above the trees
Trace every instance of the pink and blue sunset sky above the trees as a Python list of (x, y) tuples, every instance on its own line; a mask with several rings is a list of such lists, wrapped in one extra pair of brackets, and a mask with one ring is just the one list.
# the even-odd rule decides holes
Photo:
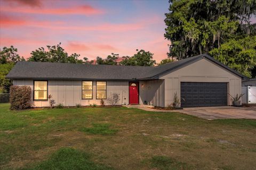
[(0, 48), (13, 45), (27, 58), (32, 50), (61, 43), (69, 55), (89, 60), (145, 49), (159, 62), (169, 50), (168, 8), (168, 0), (0, 0)]

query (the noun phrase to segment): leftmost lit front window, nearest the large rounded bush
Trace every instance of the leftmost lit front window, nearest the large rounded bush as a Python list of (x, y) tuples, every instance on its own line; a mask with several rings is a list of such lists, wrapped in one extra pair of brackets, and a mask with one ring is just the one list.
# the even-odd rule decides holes
[(47, 100), (47, 81), (34, 81), (34, 100)]

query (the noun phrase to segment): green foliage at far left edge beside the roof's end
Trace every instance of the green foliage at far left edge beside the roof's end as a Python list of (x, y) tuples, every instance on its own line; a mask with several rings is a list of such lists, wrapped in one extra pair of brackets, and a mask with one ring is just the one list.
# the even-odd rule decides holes
[(5, 77), (12, 70), (13, 66), (13, 63), (0, 64), (0, 93), (10, 91), (12, 81)]

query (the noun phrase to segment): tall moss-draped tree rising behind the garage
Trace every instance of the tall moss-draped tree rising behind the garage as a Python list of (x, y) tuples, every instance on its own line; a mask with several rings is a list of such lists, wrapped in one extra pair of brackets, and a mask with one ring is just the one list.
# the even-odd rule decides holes
[[(227, 55), (220, 55), (225, 48), (222, 45), (231, 40), (240, 42), (255, 37), (255, 25), (250, 22), (251, 16), (256, 13), (255, 0), (171, 0), (169, 11), (165, 14), (167, 28), (164, 36), (171, 41), (169, 56), (178, 60), (202, 53), (210, 53), (217, 60), (221, 58), (220, 61), (227, 60)], [(236, 47), (231, 47), (235, 51)], [(250, 49), (255, 47), (250, 46)], [(256, 56), (245, 60), (250, 59), (255, 61)], [(236, 64), (243, 65), (243, 62), (239, 63), (242, 59), (236, 61)], [(234, 62), (229, 66), (237, 69)], [(253, 63), (248, 68), (249, 72), (243, 74), (250, 76), (250, 69), (255, 66)]]

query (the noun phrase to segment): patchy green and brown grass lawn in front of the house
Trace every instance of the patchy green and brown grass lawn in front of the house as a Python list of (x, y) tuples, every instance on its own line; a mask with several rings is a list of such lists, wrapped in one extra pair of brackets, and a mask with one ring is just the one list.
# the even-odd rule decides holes
[(255, 134), (255, 120), (0, 104), (0, 169), (256, 169)]

